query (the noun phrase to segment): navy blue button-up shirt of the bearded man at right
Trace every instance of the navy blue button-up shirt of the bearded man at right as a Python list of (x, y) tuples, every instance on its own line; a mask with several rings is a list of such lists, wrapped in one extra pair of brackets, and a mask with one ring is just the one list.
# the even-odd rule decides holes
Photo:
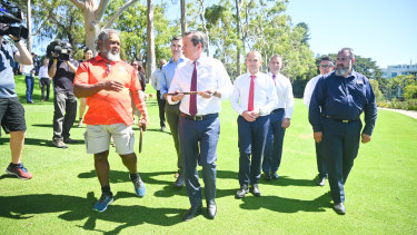
[(314, 131), (317, 133), (321, 131), (324, 116), (355, 120), (363, 111), (365, 112), (363, 133), (370, 136), (377, 119), (377, 105), (368, 78), (354, 70), (347, 78), (336, 76), (332, 71), (318, 80), (312, 92), (308, 118)]

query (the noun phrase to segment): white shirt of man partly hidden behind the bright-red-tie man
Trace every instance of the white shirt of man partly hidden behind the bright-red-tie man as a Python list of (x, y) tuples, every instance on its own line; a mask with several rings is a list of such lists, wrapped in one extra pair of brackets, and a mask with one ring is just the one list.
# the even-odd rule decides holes
[[(272, 74), (268, 74), (272, 79)], [(274, 80), (272, 80), (274, 81)], [(291, 118), (294, 110), (294, 95), (291, 81), (281, 74), (276, 75), (275, 87), (278, 95), (278, 107), (285, 109), (285, 118)]]

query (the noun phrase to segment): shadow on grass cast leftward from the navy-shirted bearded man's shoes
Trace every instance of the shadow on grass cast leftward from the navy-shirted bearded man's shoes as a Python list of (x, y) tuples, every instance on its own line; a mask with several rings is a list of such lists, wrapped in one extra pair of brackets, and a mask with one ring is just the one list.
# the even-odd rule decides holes
[(240, 205), (240, 208), (244, 209), (266, 208), (279, 213), (325, 212), (325, 207), (331, 207), (330, 192), (312, 200), (294, 199), (279, 196), (248, 196), (241, 200), (244, 204)]

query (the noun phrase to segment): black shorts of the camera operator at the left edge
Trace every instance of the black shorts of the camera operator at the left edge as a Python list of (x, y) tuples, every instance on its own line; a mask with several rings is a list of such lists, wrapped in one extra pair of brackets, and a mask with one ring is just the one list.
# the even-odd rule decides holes
[(26, 130), (24, 108), (18, 97), (0, 98), (0, 121), (7, 134)]

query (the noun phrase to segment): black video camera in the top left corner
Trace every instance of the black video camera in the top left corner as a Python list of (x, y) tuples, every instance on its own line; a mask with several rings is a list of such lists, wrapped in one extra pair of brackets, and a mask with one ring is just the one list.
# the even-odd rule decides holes
[(11, 35), (18, 39), (28, 39), (29, 30), (21, 26), (23, 13), (20, 8), (7, 0), (0, 1), (0, 23), (9, 26), (7, 30), (0, 30), (0, 36)]

